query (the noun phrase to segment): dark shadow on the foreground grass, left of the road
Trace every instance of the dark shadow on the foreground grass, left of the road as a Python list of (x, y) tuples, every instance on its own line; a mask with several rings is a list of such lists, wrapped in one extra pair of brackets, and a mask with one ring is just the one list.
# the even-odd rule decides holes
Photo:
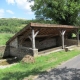
[(41, 71), (41, 69), (33, 69), (31, 71), (17, 71), (17, 72), (8, 72), (4, 73), (4, 77), (1, 80), (23, 80), (25, 77), (28, 77), (30, 75), (37, 75), (44, 73)]

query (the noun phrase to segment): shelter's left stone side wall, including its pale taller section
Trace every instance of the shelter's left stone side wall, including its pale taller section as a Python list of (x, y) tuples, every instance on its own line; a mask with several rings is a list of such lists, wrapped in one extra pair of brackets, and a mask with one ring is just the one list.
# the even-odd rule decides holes
[[(31, 44), (31, 42), (30, 42)], [(10, 43), (10, 47), (9, 47), (9, 53), (10, 54), (6, 54), (7, 56), (14, 56), (14, 57), (18, 57), (18, 58), (23, 58), (25, 55), (33, 55), (33, 50), (31, 49), (31, 47), (24, 47), (23, 45), (19, 44), (18, 39), (14, 39), (11, 43)]]

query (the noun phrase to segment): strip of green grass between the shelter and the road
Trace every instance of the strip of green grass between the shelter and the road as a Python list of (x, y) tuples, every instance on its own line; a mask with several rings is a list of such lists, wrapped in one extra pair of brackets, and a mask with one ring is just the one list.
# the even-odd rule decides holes
[(79, 50), (56, 52), (35, 58), (35, 63), (18, 63), (10, 68), (0, 69), (0, 80), (23, 80), (24, 77), (37, 75), (43, 71), (55, 68), (64, 61), (80, 54)]

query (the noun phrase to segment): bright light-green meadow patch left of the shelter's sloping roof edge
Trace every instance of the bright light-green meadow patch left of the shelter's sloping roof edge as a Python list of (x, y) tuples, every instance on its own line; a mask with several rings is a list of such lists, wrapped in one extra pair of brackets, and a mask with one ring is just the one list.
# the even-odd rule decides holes
[(0, 33), (0, 46), (5, 45), (6, 42), (13, 36), (12, 33)]

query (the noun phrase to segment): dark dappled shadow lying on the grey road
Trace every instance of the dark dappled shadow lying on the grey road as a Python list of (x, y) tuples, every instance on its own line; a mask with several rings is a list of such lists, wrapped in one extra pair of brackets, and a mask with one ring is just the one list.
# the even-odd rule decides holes
[(66, 67), (53, 69), (47, 73), (40, 74), (35, 80), (80, 80), (80, 69)]

